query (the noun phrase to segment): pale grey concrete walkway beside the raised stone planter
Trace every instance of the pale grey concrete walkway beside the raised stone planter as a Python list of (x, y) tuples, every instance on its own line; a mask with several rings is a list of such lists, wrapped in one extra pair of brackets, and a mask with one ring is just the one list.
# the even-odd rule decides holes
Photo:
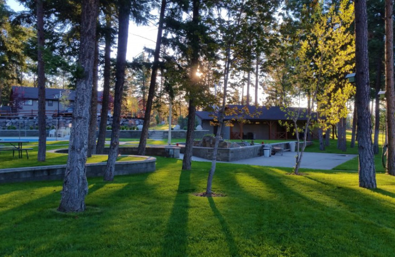
[[(272, 155), (271, 157), (259, 156), (230, 163), (292, 168), (295, 166), (295, 155), (295, 152), (284, 152), (283, 156), (281, 156), (280, 153), (276, 153), (276, 155)], [(182, 159), (183, 157), (184, 155), (180, 154), (180, 159)], [(332, 170), (336, 166), (341, 165), (355, 157), (355, 154), (303, 153), (301, 168)], [(194, 156), (192, 157), (192, 160), (198, 162), (211, 162), (209, 160), (197, 158)]]

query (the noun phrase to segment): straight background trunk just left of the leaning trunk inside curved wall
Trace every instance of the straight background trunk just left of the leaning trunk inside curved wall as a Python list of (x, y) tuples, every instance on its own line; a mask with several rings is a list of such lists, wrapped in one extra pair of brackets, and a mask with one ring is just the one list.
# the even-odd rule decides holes
[(106, 7), (106, 32), (104, 47), (104, 71), (103, 71), (103, 99), (100, 113), (99, 136), (96, 144), (96, 153), (103, 154), (106, 141), (108, 104), (110, 98), (110, 77), (111, 77), (111, 7)]

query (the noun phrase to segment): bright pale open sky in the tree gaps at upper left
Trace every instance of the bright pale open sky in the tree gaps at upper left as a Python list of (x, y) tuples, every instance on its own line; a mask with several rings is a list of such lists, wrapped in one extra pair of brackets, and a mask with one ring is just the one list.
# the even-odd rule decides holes
[[(25, 9), (16, 0), (6, 0), (6, 2), (14, 11)], [(157, 34), (158, 28), (155, 24), (149, 26), (136, 26), (134, 23), (130, 22), (126, 53), (127, 60), (132, 61), (133, 57), (143, 52), (144, 47), (155, 49)], [(113, 50), (112, 56), (116, 56), (116, 50)]]

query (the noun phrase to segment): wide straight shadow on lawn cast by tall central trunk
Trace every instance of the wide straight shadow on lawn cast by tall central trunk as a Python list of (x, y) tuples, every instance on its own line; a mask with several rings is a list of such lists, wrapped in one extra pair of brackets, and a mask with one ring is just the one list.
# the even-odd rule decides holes
[(191, 171), (181, 171), (162, 246), (161, 256), (187, 256), (187, 224)]

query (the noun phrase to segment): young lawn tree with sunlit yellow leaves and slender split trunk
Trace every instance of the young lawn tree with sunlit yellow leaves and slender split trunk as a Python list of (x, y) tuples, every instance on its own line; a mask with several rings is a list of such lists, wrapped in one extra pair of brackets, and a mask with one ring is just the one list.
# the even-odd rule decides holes
[[(299, 173), (303, 152), (306, 147), (307, 135), (313, 125), (314, 104), (326, 107), (327, 116), (336, 113), (339, 106), (344, 106), (342, 100), (348, 99), (353, 92), (352, 86), (346, 84), (342, 78), (353, 66), (348, 65), (349, 60), (354, 57), (353, 36), (349, 27), (353, 22), (353, 6), (348, 1), (342, 1), (340, 6), (330, 6), (324, 11), (323, 6), (317, 4), (314, 7), (312, 20), (307, 21), (307, 26), (301, 26), (290, 44), (300, 42), (298, 49), (287, 60), (290, 65), (289, 72), (292, 74), (292, 87), (283, 93), (282, 108), (293, 123), (293, 130), (298, 141), (294, 173)], [(308, 28), (308, 29), (304, 29)], [(338, 79), (333, 79), (338, 78)], [(302, 97), (308, 95), (309, 106), (305, 110), (293, 108), (300, 106)], [(330, 101), (328, 101), (330, 97)], [(324, 104), (323, 104), (324, 103)], [(306, 124), (301, 127), (298, 121), (303, 118)], [(310, 128), (310, 129), (309, 129)], [(302, 137), (299, 134), (302, 132)], [(303, 143), (299, 144), (302, 139)]]

